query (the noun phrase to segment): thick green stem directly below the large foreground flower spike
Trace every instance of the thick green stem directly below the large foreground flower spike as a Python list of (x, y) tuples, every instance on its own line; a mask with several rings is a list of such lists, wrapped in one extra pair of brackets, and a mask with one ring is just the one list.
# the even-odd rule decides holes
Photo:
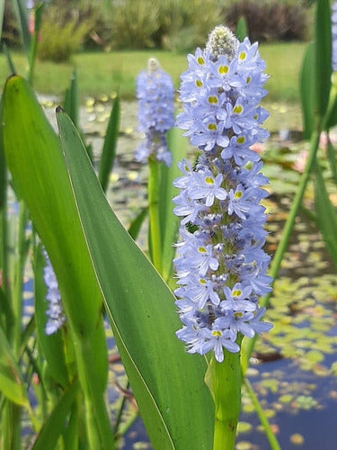
[(240, 353), (224, 353), (222, 363), (212, 358), (205, 378), (215, 402), (213, 450), (234, 450), (241, 411)]

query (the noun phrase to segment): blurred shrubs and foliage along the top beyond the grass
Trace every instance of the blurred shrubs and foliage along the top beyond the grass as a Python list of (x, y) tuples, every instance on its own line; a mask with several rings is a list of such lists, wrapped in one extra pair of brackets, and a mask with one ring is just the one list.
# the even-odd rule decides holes
[[(41, 0), (31, 0), (32, 7)], [(46, 0), (40, 58), (67, 60), (78, 49), (172, 49), (203, 45), (225, 23), (235, 30), (244, 15), (252, 40), (303, 40), (315, 0)], [(5, 2), (3, 40), (18, 47), (20, 35)], [(62, 47), (65, 50), (62, 50)]]

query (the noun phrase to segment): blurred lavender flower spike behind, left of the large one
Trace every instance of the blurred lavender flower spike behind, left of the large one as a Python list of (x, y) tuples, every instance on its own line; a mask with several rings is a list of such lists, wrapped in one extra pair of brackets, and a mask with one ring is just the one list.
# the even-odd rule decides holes
[(174, 125), (174, 89), (171, 76), (166, 74), (155, 58), (148, 60), (148, 69), (137, 76), (139, 130), (146, 140), (136, 150), (137, 161), (146, 162), (155, 155), (170, 166), (172, 156), (167, 148), (166, 132)]

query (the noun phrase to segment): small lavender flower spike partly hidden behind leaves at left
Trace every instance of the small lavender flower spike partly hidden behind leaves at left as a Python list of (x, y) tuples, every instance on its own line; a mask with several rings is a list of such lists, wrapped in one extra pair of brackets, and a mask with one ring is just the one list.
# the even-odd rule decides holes
[(49, 302), (48, 310), (46, 311), (48, 315), (48, 320), (46, 323), (46, 335), (51, 335), (56, 333), (58, 329), (66, 321), (66, 316), (63, 311), (61, 295), (58, 291), (58, 280), (56, 278), (53, 267), (51, 266), (49, 256), (46, 251), (43, 252), (46, 259), (46, 266), (43, 271), (44, 282), (48, 288), (46, 295), (46, 300)]

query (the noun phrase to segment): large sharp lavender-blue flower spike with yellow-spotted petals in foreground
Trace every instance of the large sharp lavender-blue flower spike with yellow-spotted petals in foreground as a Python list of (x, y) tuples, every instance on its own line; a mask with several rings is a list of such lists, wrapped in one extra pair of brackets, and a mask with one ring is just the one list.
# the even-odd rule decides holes
[(259, 105), (267, 76), (257, 43), (240, 43), (223, 26), (188, 61), (177, 123), (200, 156), (194, 166), (182, 160), (173, 183), (180, 188), (174, 213), (182, 217), (174, 259), (183, 324), (177, 336), (190, 353), (214, 351), (222, 362), (224, 348), (240, 350), (240, 333), (252, 338), (272, 327), (257, 304), (271, 290), (260, 204), (268, 179), (250, 148), (268, 137), (261, 127), (268, 112)]

